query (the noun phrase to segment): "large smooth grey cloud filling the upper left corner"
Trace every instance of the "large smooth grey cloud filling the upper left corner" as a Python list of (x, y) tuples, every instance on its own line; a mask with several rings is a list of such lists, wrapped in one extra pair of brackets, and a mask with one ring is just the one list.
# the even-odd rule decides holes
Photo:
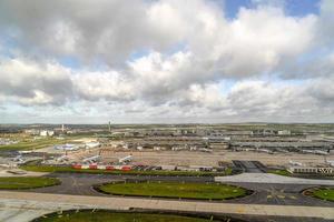
[(174, 42), (173, 36), (150, 23), (149, 7), (140, 0), (4, 0), (0, 23), (9, 32), (16, 30), (26, 48), (112, 64), (136, 50), (163, 49)]

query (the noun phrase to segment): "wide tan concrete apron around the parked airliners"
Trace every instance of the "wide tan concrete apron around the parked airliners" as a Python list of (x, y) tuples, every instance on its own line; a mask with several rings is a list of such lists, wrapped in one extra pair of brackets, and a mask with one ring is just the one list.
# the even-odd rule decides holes
[[(147, 165), (208, 165), (218, 167), (218, 162), (232, 162), (233, 160), (259, 161), (266, 165), (284, 165), (288, 164), (289, 160), (301, 163), (320, 164), (324, 163), (323, 155), (303, 154), (303, 153), (275, 153), (268, 154), (263, 152), (233, 152), (229, 150), (214, 152), (198, 151), (115, 151), (104, 148), (90, 151), (69, 152), (72, 160), (80, 161), (84, 158), (100, 154), (104, 162), (114, 162), (119, 158), (132, 155), (134, 162)], [(334, 160), (334, 155), (327, 155), (327, 160)]]

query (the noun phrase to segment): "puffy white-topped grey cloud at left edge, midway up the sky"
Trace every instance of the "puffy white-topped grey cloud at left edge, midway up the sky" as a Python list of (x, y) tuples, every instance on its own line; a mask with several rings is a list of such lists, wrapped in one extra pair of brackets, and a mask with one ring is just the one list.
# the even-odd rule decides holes
[(57, 64), (12, 59), (0, 62), (0, 94), (22, 104), (61, 104), (72, 95), (72, 83)]

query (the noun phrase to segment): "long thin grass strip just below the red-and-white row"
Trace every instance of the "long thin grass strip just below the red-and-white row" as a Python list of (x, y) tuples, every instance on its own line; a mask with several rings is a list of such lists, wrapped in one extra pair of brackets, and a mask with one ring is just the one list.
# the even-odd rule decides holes
[(226, 169), (225, 172), (189, 172), (189, 171), (121, 171), (121, 170), (89, 170), (89, 169), (72, 169), (71, 167), (53, 167), (53, 165), (38, 165), (28, 163), (21, 165), (20, 169), (35, 172), (59, 172), (59, 173), (94, 173), (94, 174), (128, 174), (128, 175), (186, 175), (186, 176), (215, 176), (229, 175), (232, 169)]

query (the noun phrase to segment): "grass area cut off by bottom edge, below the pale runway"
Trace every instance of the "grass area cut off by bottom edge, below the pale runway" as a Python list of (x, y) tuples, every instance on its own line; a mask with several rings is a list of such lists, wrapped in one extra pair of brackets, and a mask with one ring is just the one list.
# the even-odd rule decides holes
[(65, 212), (39, 218), (32, 222), (208, 222), (208, 219), (189, 218), (171, 214), (116, 213), (108, 211)]

